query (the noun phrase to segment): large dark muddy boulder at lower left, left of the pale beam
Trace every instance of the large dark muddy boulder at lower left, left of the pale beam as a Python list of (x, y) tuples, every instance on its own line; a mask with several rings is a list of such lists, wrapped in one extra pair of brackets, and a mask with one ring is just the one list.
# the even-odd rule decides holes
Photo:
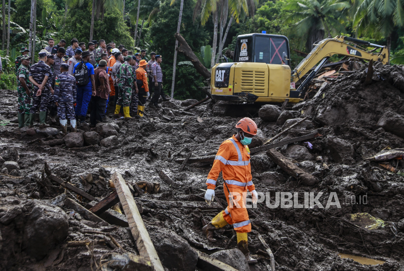
[(68, 216), (59, 207), (40, 200), (28, 201), (23, 210), (27, 219), (23, 249), (40, 260), (69, 234)]

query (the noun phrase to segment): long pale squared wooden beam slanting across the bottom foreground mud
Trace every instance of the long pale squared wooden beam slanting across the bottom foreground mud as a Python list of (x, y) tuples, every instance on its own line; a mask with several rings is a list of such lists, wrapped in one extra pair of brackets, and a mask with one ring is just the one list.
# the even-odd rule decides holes
[(164, 271), (163, 265), (154, 249), (145, 224), (143, 223), (142, 217), (137, 209), (135, 200), (130, 193), (129, 187), (126, 185), (125, 180), (122, 178), (121, 174), (115, 172), (112, 175), (112, 181), (128, 219), (129, 229), (136, 241), (136, 247), (140, 256), (150, 259), (154, 270)]

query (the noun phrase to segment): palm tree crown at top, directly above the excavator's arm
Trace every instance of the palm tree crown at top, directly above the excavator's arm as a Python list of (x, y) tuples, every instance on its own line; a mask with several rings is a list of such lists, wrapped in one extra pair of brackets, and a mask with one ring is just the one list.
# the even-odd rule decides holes
[(340, 20), (344, 18), (342, 11), (349, 7), (349, 2), (340, 0), (290, 0), (284, 9), (293, 13), (285, 22), (294, 23), (296, 33), (302, 41), (306, 39), (306, 49), (311, 51), (312, 44), (324, 39), (325, 34), (331, 36), (345, 31)]

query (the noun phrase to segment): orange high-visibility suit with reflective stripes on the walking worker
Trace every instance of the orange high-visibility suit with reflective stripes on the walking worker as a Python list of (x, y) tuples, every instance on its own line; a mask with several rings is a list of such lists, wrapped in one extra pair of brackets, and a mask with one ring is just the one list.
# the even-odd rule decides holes
[[(251, 223), (245, 207), (247, 189), (250, 192), (255, 190), (251, 175), (250, 150), (247, 146), (242, 145), (235, 136), (221, 143), (207, 177), (208, 189), (215, 189), (220, 172), (223, 172), (225, 181), (223, 189), (229, 205), (222, 211), (224, 220), (232, 224), (236, 232), (251, 232)], [(227, 189), (233, 198), (229, 198)], [(233, 200), (233, 204), (230, 204), (229, 200)]]

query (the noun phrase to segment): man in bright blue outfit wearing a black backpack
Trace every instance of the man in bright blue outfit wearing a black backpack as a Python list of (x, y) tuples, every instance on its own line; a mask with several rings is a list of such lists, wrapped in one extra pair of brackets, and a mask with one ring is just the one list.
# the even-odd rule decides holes
[(87, 66), (90, 80), (85, 86), (77, 85), (77, 105), (75, 108), (76, 117), (79, 118), (81, 125), (88, 125), (86, 123), (87, 109), (92, 96), (95, 96), (95, 81), (94, 81), (94, 67), (90, 63), (90, 52), (84, 51), (81, 54), (82, 61), (74, 65), (73, 74), (75, 74), (76, 68), (80, 63), (84, 63)]

